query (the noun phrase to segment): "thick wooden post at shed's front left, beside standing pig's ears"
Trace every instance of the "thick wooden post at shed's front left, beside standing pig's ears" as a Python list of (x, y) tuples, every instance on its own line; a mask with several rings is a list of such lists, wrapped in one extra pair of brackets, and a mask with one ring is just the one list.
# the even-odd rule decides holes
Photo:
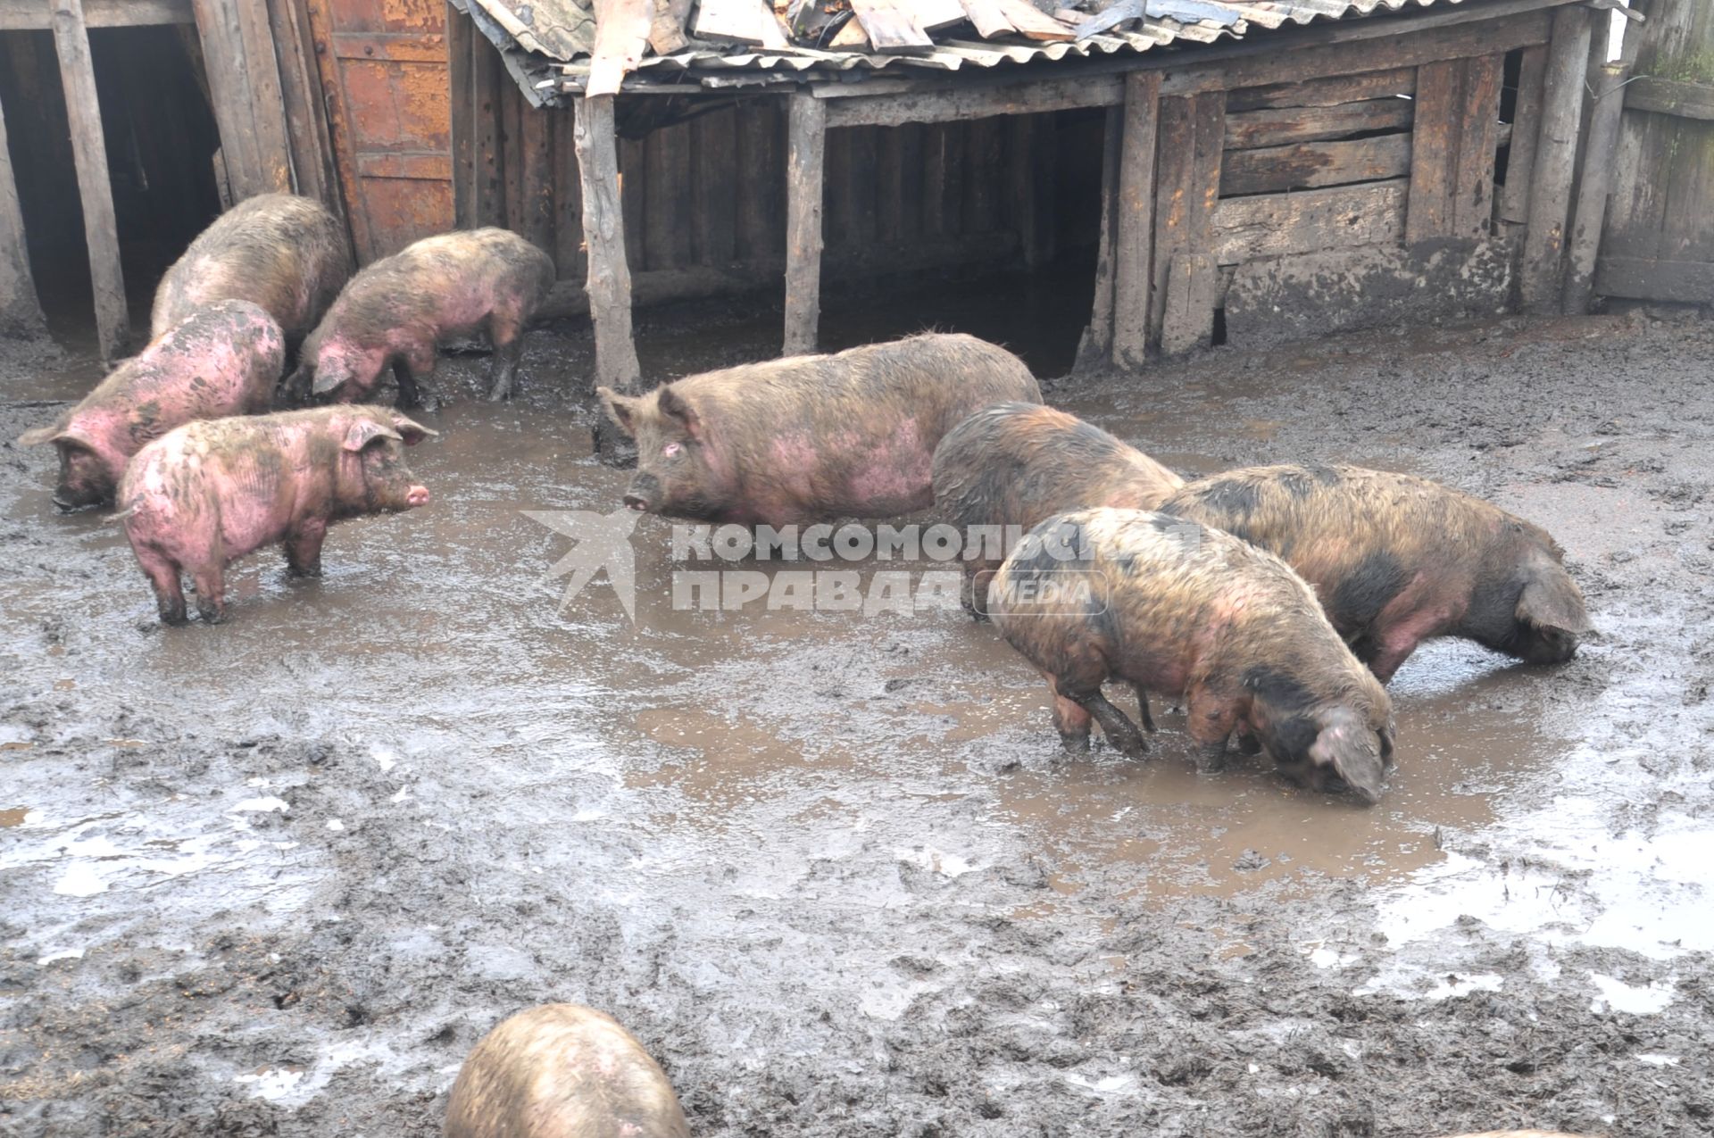
[[(583, 240), (590, 255), (590, 319), (595, 322), (595, 382), (636, 392), (643, 377), (631, 339), (631, 266), (626, 264), (626, 219), (619, 201), (619, 142), (614, 96), (572, 101), (572, 146), (583, 185)], [(602, 418), (595, 427), (602, 458), (619, 452), (619, 435)]]

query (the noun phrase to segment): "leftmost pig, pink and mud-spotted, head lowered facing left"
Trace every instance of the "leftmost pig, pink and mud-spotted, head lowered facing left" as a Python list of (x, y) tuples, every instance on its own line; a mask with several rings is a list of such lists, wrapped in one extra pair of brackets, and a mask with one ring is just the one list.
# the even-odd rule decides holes
[(279, 324), (257, 305), (204, 305), (125, 360), (51, 427), (26, 430), (17, 440), (58, 447), (55, 506), (99, 506), (111, 500), (130, 456), (173, 427), (266, 411), (285, 353)]

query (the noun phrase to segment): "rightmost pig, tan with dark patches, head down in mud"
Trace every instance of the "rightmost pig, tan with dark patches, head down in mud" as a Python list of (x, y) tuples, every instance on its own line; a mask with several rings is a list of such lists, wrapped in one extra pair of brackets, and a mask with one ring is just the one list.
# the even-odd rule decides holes
[(1284, 557), (1383, 684), (1436, 636), (1561, 663), (1589, 631), (1546, 530), (1426, 478), (1253, 466), (1191, 482), (1160, 511)]

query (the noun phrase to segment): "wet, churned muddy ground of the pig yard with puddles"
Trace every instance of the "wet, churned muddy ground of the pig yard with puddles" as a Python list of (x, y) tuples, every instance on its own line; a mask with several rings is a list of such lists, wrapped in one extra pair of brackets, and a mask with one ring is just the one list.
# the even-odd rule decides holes
[[(641, 327), (672, 375), (776, 315)], [(1423, 651), (1373, 809), (1196, 778), (1176, 715), (1064, 758), (960, 615), (674, 610), (653, 518), (636, 622), (603, 579), (559, 610), (572, 543), (523, 511), (624, 482), (576, 327), (507, 406), (447, 360), (434, 506), (315, 583), (249, 559), (221, 627), (161, 629), (0, 447), (0, 1131), (434, 1135), (476, 1039), (566, 999), (711, 1136), (1709, 1133), (1711, 358), (1704, 322), (1503, 320), (1051, 386), (1184, 470), (1361, 461), (1558, 535), (1599, 634)], [(0, 370), (10, 439), (93, 368)]]

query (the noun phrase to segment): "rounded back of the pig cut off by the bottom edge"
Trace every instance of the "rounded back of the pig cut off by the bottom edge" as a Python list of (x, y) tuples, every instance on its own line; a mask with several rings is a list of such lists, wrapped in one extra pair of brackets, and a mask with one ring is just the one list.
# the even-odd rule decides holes
[(519, 1011), (482, 1037), (444, 1138), (687, 1138), (672, 1083), (619, 1023), (578, 1004)]

